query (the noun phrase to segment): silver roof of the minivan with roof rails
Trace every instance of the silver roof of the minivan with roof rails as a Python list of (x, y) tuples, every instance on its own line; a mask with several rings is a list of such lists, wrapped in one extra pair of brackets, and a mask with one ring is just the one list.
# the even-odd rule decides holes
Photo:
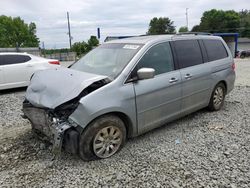
[(129, 37), (123, 39), (111, 40), (105, 43), (132, 43), (132, 44), (148, 44), (159, 42), (163, 40), (188, 40), (188, 39), (221, 39), (218, 36), (212, 35), (191, 35), (191, 34), (183, 34), (183, 35), (145, 35), (145, 36), (136, 36)]

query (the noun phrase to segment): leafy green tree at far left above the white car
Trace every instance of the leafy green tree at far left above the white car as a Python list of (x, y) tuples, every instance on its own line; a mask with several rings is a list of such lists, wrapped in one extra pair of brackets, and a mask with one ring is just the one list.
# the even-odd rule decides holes
[(0, 47), (38, 47), (36, 24), (24, 23), (20, 17), (0, 16)]

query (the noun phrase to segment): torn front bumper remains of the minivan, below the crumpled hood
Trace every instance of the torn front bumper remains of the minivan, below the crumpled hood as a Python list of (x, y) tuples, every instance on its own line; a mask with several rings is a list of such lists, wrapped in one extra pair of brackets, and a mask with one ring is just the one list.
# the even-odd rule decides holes
[(70, 153), (78, 152), (79, 133), (68, 121), (53, 117), (50, 110), (23, 103), (23, 113), (31, 122), (32, 129), (53, 144), (53, 153), (58, 155), (64, 147)]

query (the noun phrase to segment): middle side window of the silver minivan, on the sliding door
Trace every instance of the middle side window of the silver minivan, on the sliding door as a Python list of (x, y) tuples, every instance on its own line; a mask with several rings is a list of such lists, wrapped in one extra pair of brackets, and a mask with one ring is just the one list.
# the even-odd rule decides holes
[(200, 45), (197, 40), (174, 41), (179, 68), (203, 63)]

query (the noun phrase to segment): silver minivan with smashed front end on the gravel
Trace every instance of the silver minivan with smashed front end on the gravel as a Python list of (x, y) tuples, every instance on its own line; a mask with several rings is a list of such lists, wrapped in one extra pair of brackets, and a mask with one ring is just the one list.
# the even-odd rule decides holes
[[(155, 35), (106, 42), (70, 68), (36, 72), (23, 103), (38, 135), (83, 160), (208, 107), (220, 110), (235, 64), (220, 37)], [(167, 135), (166, 135), (167, 136)]]

